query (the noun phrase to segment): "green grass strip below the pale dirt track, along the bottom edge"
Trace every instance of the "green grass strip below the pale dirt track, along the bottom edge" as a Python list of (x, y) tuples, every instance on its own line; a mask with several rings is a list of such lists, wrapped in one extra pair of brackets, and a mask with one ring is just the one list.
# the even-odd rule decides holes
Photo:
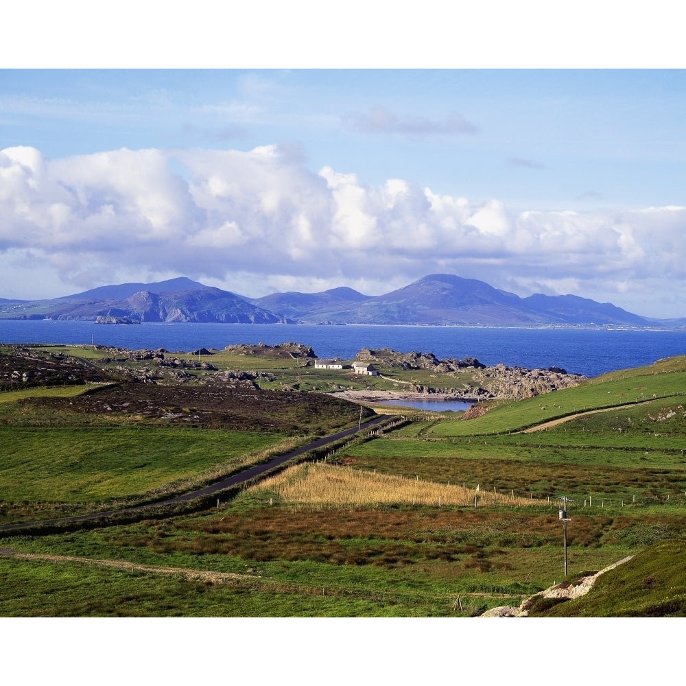
[[(443, 599), (259, 579), (186, 580), (182, 573), (0, 560), (4, 617), (427, 617)], [(27, 589), (30, 589), (27, 593)]]

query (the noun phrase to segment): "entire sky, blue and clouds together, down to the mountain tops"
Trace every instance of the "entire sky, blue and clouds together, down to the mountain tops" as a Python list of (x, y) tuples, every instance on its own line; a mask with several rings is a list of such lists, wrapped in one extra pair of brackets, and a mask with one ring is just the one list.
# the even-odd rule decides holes
[(3, 62), (0, 298), (449, 273), (686, 316), (686, 70), (288, 55)]

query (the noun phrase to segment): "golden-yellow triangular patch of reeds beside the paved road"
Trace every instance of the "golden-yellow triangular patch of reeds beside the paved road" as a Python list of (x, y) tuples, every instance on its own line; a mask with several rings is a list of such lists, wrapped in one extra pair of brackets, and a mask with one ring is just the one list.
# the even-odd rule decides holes
[(253, 486), (252, 493), (311, 506), (539, 506), (539, 500), (489, 490), (332, 466), (298, 464)]

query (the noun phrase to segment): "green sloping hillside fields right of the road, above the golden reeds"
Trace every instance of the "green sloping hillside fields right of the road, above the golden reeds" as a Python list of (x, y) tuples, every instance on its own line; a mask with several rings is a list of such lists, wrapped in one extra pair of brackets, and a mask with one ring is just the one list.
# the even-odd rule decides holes
[[(601, 401), (623, 404), (627, 388), (651, 399), (629, 407), (601, 407)], [(589, 506), (684, 504), (684, 388), (683, 358), (678, 358), (616, 372), (602, 383), (593, 379), (578, 388), (500, 403), (469, 421), (414, 421), (355, 446), (346, 459), (359, 469), (471, 488), (478, 484), (499, 493), (564, 495), (575, 507), (584, 501)], [(590, 408), (602, 411), (585, 414)], [(567, 421), (524, 432), (537, 417), (539, 422), (555, 417)]]

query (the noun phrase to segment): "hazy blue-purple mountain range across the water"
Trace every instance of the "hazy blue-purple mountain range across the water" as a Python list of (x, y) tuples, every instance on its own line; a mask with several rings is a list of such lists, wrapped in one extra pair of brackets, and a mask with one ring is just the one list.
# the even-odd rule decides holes
[(273, 293), (248, 298), (185, 277), (122, 283), (52, 300), (0, 298), (0, 318), (99, 322), (228, 322), (252, 324), (482, 324), (490, 326), (685, 326), (651, 320), (611, 303), (574, 295), (521, 298), (477, 279), (429, 274), (380, 296), (352, 288)]

